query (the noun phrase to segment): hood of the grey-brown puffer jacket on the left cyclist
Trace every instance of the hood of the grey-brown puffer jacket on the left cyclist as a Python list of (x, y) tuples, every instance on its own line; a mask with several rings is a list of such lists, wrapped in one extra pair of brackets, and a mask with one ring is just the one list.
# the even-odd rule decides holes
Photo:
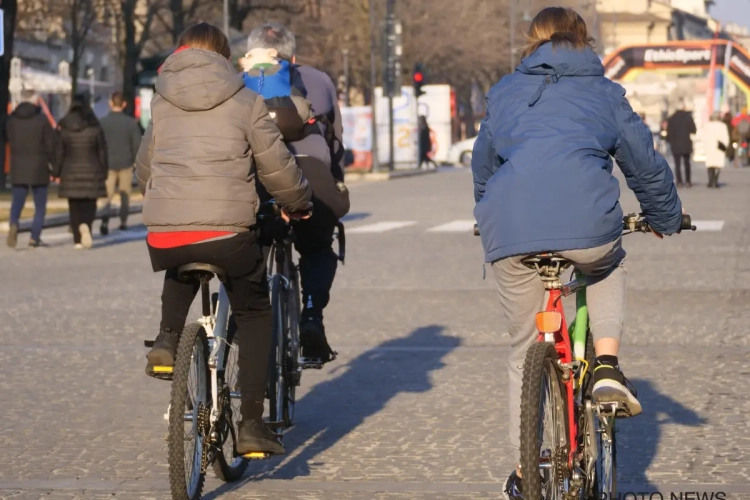
[(205, 111), (227, 101), (245, 86), (242, 75), (221, 55), (185, 49), (164, 62), (156, 91), (185, 111)]

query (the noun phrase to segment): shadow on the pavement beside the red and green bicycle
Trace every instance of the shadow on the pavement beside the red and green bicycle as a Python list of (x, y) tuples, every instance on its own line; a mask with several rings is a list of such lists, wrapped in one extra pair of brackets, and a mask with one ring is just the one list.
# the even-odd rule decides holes
[[(656, 486), (648, 480), (646, 472), (656, 457), (663, 426), (700, 427), (708, 420), (657, 391), (650, 381), (640, 379), (632, 382), (643, 405), (643, 413), (634, 418), (618, 420), (618, 483), (644, 488), (641, 491), (655, 491)], [(670, 452), (669, 448), (668, 445), (665, 448), (667, 453)]]

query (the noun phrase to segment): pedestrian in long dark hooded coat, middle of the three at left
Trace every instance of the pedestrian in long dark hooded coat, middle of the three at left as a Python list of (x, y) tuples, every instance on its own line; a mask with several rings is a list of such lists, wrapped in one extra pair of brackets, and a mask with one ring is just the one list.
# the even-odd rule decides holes
[(60, 198), (68, 199), (75, 248), (91, 248), (96, 200), (107, 196), (107, 143), (88, 98), (76, 95), (60, 121), (55, 177)]

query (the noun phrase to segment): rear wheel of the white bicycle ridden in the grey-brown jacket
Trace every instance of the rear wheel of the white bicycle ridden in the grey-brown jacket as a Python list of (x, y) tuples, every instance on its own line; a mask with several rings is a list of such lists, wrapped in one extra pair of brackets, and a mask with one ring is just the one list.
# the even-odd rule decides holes
[[(194, 398), (188, 400), (191, 368), (196, 369), (196, 389), (202, 390), (200, 401)], [(202, 380), (201, 380), (202, 379)], [(187, 406), (188, 401), (190, 405)], [(197, 407), (195, 403), (198, 403)], [(207, 405), (207, 406), (206, 406)], [(208, 372), (208, 341), (203, 326), (199, 323), (191, 323), (182, 331), (180, 342), (177, 346), (177, 359), (175, 360), (172, 378), (172, 393), (169, 407), (169, 487), (174, 500), (197, 500), (201, 496), (203, 483), (205, 481), (205, 470), (203, 470), (203, 450), (209, 446), (203, 442), (204, 433), (201, 423), (207, 418), (206, 408), (210, 411), (211, 406), (211, 384)], [(192, 451), (190, 463), (190, 476), (187, 476), (186, 467), (186, 439), (185, 439), (185, 414), (192, 413), (191, 433), (195, 447)], [(199, 414), (201, 415), (199, 417)], [(199, 446), (200, 445), (200, 446)], [(197, 470), (196, 470), (197, 467)]]

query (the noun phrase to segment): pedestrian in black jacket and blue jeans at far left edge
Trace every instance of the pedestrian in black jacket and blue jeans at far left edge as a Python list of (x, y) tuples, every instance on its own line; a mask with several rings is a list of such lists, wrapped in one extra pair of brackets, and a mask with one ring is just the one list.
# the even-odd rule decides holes
[(55, 131), (37, 106), (38, 97), (33, 90), (22, 91), (21, 101), (3, 127), (5, 143), (10, 146), (10, 183), (13, 186), (7, 243), (11, 248), (18, 244), (18, 221), (31, 190), (34, 220), (29, 247), (36, 248), (43, 245), (41, 236), (55, 153)]

